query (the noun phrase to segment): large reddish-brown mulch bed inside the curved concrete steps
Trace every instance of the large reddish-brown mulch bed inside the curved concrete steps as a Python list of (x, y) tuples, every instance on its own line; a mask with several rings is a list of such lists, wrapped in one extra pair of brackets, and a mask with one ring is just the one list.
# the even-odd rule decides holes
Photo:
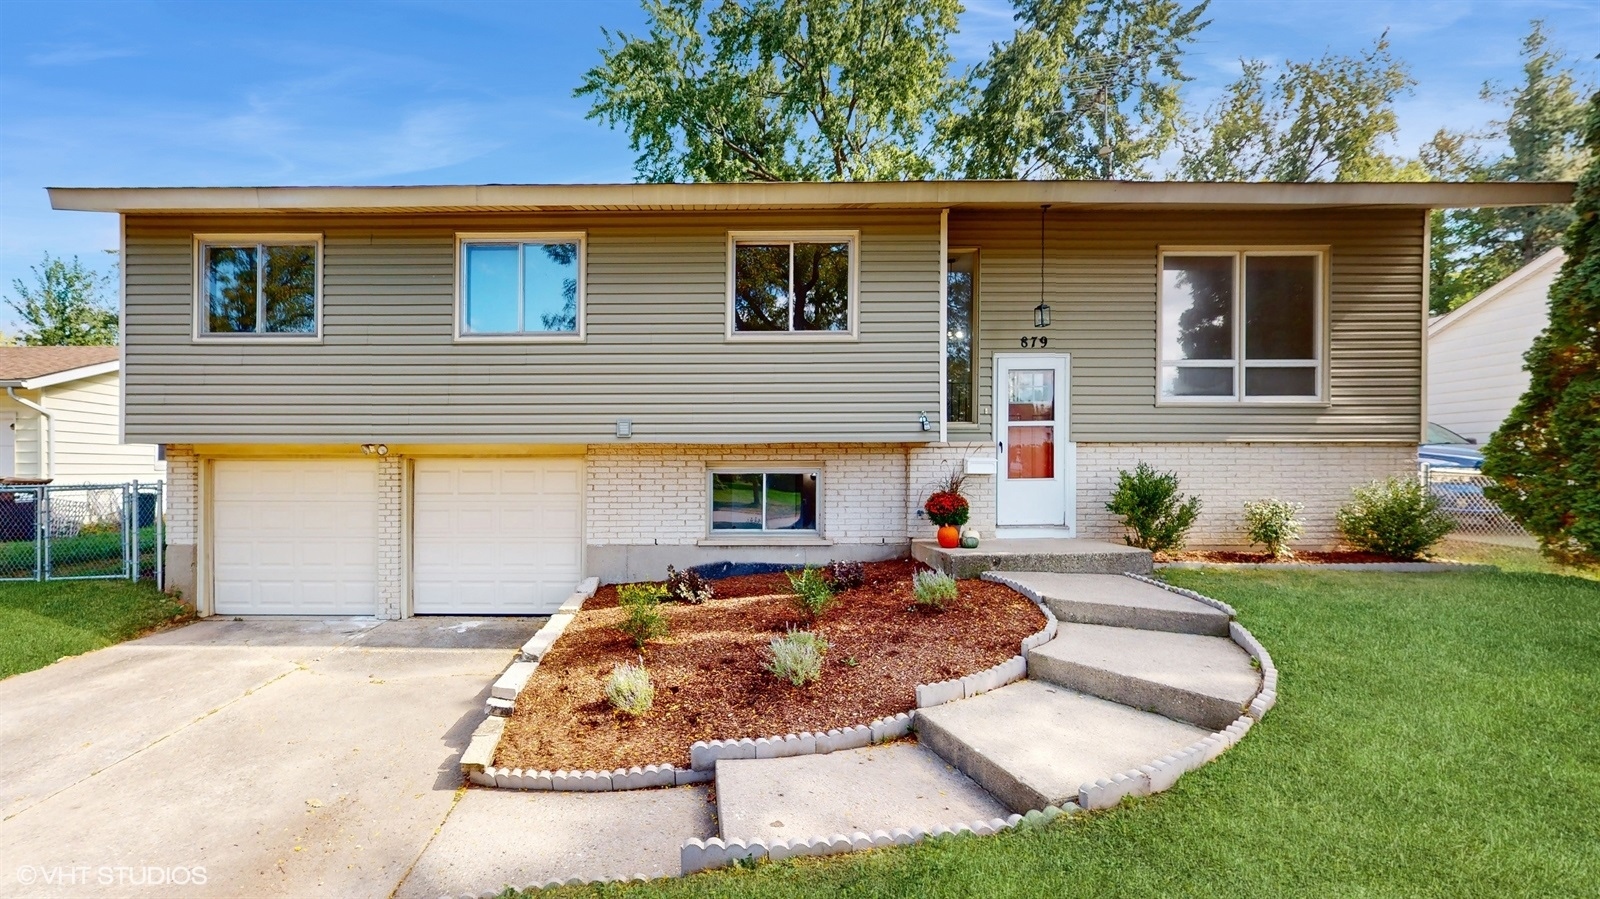
[(962, 581), (942, 613), (912, 608), (910, 560), (866, 566), (866, 584), (838, 595), (816, 622), (827, 637), (822, 677), (790, 686), (762, 670), (773, 635), (806, 627), (782, 574), (715, 581), (717, 598), (662, 603), (672, 632), (645, 648), (654, 709), (634, 720), (611, 710), (605, 678), (637, 662), (616, 590), (584, 603), (544, 657), (506, 723), (496, 765), (613, 769), (686, 768), (694, 741), (760, 737), (864, 725), (915, 707), (915, 685), (949, 680), (1018, 654), (1045, 616), (1010, 587)]

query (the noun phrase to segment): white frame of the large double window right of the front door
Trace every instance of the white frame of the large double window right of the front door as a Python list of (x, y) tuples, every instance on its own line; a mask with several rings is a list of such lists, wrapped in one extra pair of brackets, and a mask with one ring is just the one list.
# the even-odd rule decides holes
[[(1166, 336), (1166, 283), (1168, 256), (1226, 256), (1234, 259), (1234, 301), (1229, 307), (1232, 323), (1230, 360), (1170, 360), (1162, 357)], [(1312, 309), (1312, 347), (1317, 358), (1245, 358), (1245, 259), (1251, 256), (1309, 256), (1317, 261), (1315, 294)], [(1328, 402), (1328, 246), (1162, 246), (1155, 259), (1155, 405), (1157, 406), (1326, 406)], [(1178, 368), (1226, 368), (1234, 373), (1234, 394), (1229, 397), (1173, 397), (1163, 390), (1162, 370)], [(1317, 394), (1310, 397), (1248, 397), (1245, 395), (1246, 368), (1315, 368)]]

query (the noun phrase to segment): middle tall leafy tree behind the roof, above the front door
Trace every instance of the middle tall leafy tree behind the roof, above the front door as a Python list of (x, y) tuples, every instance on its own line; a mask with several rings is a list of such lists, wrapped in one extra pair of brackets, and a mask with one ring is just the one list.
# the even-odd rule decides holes
[(1149, 178), (1178, 136), (1203, 0), (1018, 0), (1018, 29), (941, 125), (958, 178)]

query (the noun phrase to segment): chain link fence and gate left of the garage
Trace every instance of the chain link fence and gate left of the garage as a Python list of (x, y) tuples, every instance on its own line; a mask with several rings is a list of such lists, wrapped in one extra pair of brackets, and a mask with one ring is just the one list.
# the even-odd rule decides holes
[(0, 486), (0, 581), (155, 581), (162, 485)]

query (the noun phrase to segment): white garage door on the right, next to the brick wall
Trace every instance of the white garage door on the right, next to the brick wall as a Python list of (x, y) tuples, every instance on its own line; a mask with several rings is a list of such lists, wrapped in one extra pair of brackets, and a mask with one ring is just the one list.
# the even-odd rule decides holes
[(418, 459), (418, 614), (549, 614), (582, 579), (581, 459)]

